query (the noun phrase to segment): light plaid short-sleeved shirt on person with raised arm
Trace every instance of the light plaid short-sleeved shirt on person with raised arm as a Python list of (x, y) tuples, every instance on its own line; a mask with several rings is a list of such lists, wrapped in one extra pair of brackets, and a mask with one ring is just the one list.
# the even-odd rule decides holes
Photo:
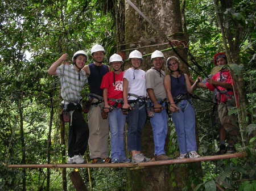
[(82, 98), (82, 88), (85, 83), (88, 83), (85, 71), (80, 70), (80, 80), (79, 73), (73, 65), (60, 65), (57, 67), (56, 73), (60, 78), (61, 97), (65, 101), (79, 101)]

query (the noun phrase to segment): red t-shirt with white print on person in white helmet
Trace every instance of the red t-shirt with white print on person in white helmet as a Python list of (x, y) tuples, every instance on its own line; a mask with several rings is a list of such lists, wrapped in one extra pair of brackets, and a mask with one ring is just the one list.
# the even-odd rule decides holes
[[(114, 74), (113, 71), (110, 71), (104, 75), (101, 82), (101, 89), (108, 89), (108, 98), (120, 99), (123, 98), (123, 71), (119, 74)], [(115, 83), (114, 83), (115, 75)], [(110, 105), (114, 105), (115, 102), (109, 100)], [(121, 107), (121, 104), (118, 104), (118, 107)]]

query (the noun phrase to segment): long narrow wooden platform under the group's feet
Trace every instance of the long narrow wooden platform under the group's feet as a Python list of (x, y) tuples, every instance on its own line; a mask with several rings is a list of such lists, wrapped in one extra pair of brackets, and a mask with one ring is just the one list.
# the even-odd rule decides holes
[(200, 158), (194, 159), (173, 159), (173, 160), (162, 160), (162, 161), (151, 161), (145, 163), (104, 163), (104, 164), (9, 164), (7, 168), (143, 168), (158, 165), (168, 164), (179, 164), (179, 163), (194, 163), (208, 160), (220, 160), (245, 157), (245, 152), (237, 152), (234, 154), (225, 155), (213, 155), (213, 156), (201, 156)]

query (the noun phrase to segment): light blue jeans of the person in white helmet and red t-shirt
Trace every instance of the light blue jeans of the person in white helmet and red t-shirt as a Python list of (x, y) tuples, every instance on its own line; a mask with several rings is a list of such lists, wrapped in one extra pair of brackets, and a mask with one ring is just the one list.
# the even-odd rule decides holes
[(109, 113), (109, 127), (111, 133), (111, 158), (112, 159), (126, 159), (125, 143), (124, 143), (124, 129), (125, 129), (126, 115), (122, 113), (121, 108), (115, 108)]

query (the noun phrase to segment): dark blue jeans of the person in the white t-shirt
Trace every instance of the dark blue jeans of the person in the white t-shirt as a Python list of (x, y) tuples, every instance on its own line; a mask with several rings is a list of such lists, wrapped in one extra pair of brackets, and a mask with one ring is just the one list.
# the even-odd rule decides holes
[(129, 151), (141, 151), (142, 128), (146, 122), (147, 114), (144, 103), (137, 103), (127, 116), (127, 145)]

